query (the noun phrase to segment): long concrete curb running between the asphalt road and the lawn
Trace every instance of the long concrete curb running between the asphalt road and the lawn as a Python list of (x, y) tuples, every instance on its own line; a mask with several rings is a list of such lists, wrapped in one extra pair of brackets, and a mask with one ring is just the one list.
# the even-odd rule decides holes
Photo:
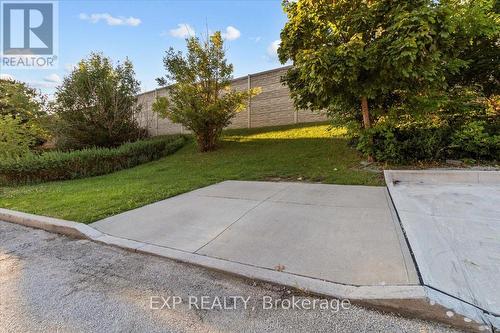
[(447, 307), (450, 306), (449, 302), (440, 302), (440, 300), (446, 299), (447, 296), (437, 291), (429, 290), (425, 286), (353, 286), (339, 284), (114, 237), (85, 224), (3, 208), (0, 208), (0, 220), (31, 228), (43, 229), (73, 238), (89, 239), (127, 251), (168, 258), (247, 279), (284, 285), (313, 295), (349, 299), (354, 304), (397, 312), (425, 320), (438, 321), (469, 331), (480, 332), (490, 330), (490, 327), (486, 323), (474, 321), (479, 320), (479, 318), (465, 318), (459, 314), (460, 312), (453, 312), (453, 316), (450, 316), (450, 308)]

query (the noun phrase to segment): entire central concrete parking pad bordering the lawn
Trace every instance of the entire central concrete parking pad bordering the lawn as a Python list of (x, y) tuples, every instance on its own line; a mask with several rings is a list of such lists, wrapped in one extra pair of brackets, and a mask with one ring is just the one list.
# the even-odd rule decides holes
[(384, 187), (226, 181), (91, 226), (341, 284), (418, 284)]

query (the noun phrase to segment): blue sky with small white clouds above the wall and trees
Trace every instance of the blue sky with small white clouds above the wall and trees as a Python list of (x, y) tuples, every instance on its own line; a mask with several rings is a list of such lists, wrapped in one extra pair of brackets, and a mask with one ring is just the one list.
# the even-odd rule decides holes
[(129, 57), (147, 91), (164, 74), (164, 51), (183, 50), (187, 33), (204, 34), (208, 26), (225, 33), (227, 58), (238, 77), (281, 66), (275, 49), (285, 21), (280, 0), (62, 0), (58, 68), (2, 68), (1, 74), (52, 94), (72, 65), (101, 51), (113, 60)]

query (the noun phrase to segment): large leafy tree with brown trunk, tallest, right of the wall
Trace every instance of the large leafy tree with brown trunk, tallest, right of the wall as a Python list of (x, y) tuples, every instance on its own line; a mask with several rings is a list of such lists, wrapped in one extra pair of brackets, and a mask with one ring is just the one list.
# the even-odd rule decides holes
[(295, 104), (362, 115), (365, 129), (370, 104), (444, 89), (467, 64), (454, 49), (451, 8), (436, 1), (299, 0), (284, 9), (278, 53), (293, 61), (284, 80)]

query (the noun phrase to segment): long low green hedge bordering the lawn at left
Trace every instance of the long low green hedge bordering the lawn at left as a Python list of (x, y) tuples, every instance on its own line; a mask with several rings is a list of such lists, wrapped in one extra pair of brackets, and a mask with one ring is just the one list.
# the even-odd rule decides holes
[(159, 137), (126, 143), (116, 148), (53, 151), (0, 160), (0, 184), (34, 183), (85, 178), (131, 168), (180, 149), (184, 136)]

